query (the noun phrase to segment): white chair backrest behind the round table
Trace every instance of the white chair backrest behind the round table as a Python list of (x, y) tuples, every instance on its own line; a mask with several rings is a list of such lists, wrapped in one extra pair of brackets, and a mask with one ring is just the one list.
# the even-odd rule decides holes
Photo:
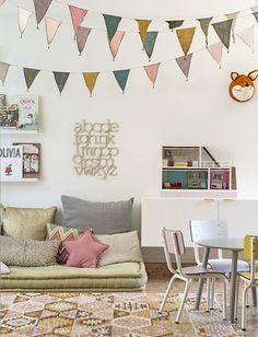
[[(199, 240), (227, 237), (226, 220), (190, 220), (191, 241), (195, 243), (195, 257), (197, 264), (201, 264), (198, 245)], [(222, 251), (219, 249), (219, 258)]]

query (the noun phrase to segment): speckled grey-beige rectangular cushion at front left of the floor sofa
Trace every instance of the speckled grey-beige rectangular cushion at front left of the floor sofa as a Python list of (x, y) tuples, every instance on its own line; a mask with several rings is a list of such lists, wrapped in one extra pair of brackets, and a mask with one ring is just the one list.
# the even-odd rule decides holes
[(8, 266), (38, 267), (57, 264), (60, 241), (36, 241), (0, 235), (0, 260)]

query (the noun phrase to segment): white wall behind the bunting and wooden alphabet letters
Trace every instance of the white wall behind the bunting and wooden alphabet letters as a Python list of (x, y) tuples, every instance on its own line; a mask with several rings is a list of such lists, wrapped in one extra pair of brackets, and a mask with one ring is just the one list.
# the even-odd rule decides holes
[[(64, 1), (64, 0), (63, 0)], [(69, 1), (95, 11), (121, 16), (180, 19), (219, 15), (248, 9), (251, 0), (222, 1), (187, 0), (130, 1), (120, 4), (113, 0)], [(33, 9), (33, 1), (12, 1)], [(70, 22), (69, 12), (54, 3), (49, 16)], [(16, 10), (4, 5), (0, 10), (0, 55), (3, 61), (32, 68), (60, 71), (94, 71), (148, 63), (141, 51), (139, 35), (127, 34), (116, 62), (108, 51), (104, 23), (96, 14), (89, 14), (89, 25), (95, 26), (81, 57), (78, 56), (72, 28), (63, 24), (47, 49), (45, 28), (35, 28), (31, 20), (23, 39), (17, 33)], [(238, 22), (236, 31), (255, 24), (247, 16)], [(191, 25), (192, 22), (188, 22)], [(132, 21), (121, 22), (120, 28), (136, 31)], [(153, 24), (153, 30), (167, 30), (164, 24)], [(210, 28), (210, 42), (219, 42)], [(220, 70), (206, 50), (194, 55), (189, 82), (186, 82), (175, 61), (160, 68), (156, 88), (153, 90), (143, 70), (133, 70), (122, 95), (112, 73), (98, 77), (92, 98), (80, 74), (71, 74), (60, 97), (50, 72), (38, 75), (30, 93), (40, 96), (40, 132), (36, 136), (1, 136), (1, 142), (34, 141), (43, 147), (43, 178), (36, 184), (1, 184), (1, 202), (12, 206), (60, 206), (60, 195), (67, 194), (90, 200), (119, 200), (136, 197), (134, 226), (139, 228), (139, 204), (143, 195), (160, 193), (160, 146), (203, 144), (218, 159), (233, 160), (237, 166), (237, 185), (241, 197), (258, 197), (258, 93), (245, 104), (237, 104), (228, 96), (230, 72), (247, 73), (258, 68), (258, 25), (255, 25), (256, 51), (237, 38), (231, 53), (224, 50)], [(197, 30), (191, 50), (204, 47), (204, 38)], [(157, 37), (152, 62), (173, 59), (181, 51), (175, 34), (161, 33)], [(258, 83), (257, 83), (258, 85)], [(22, 69), (11, 68), (5, 86), (7, 94), (25, 94)], [(89, 121), (119, 123), (117, 158), (119, 175), (101, 181), (78, 176), (73, 171), (73, 127), (85, 118)]]

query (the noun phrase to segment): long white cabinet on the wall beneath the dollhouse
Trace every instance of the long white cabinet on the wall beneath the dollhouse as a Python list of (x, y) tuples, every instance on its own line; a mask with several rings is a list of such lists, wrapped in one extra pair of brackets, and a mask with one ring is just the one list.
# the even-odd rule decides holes
[(228, 236), (258, 235), (258, 200), (145, 197), (141, 213), (143, 247), (161, 247), (164, 226), (180, 230), (186, 246), (192, 246), (190, 220), (225, 219)]

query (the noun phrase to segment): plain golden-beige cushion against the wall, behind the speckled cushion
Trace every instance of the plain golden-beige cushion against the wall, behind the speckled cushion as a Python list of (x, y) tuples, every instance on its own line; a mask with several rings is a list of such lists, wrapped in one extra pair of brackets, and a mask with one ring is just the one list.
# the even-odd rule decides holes
[(2, 234), (19, 239), (46, 239), (46, 224), (55, 219), (57, 208), (16, 208), (0, 206)]

